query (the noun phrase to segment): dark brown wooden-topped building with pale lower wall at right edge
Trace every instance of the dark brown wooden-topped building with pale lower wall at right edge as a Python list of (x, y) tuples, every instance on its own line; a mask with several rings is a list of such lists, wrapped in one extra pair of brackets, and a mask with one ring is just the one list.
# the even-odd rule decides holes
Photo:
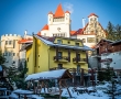
[(100, 55), (101, 68), (111, 67), (116, 73), (121, 73), (121, 41), (101, 40), (97, 45), (97, 53)]

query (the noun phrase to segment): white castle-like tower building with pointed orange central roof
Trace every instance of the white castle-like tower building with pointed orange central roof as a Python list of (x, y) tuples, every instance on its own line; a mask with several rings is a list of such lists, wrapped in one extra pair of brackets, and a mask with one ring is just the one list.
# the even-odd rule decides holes
[(64, 11), (59, 4), (55, 13), (50, 12), (47, 15), (47, 24), (37, 33), (44, 36), (70, 36), (70, 13)]

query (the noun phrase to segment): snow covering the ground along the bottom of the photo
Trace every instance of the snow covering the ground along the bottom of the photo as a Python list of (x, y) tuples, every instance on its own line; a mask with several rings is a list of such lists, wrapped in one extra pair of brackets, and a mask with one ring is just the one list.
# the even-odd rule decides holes
[[(95, 87), (96, 92), (90, 92), (90, 94), (89, 92), (79, 94), (78, 91), (75, 91), (74, 87), (69, 87), (69, 91), (70, 91), (73, 98), (69, 98), (69, 94), (67, 92), (67, 89), (63, 88), (62, 96), (68, 97), (68, 99), (112, 99), (111, 97), (109, 97), (108, 94), (103, 92), (103, 91), (107, 91), (109, 86), (110, 86), (110, 84), (108, 84), (108, 82), (105, 85), (96, 86)], [(77, 89), (84, 89), (84, 88), (77, 87)], [(88, 87), (86, 89), (91, 90), (91, 89), (94, 89), (94, 87)], [(22, 90), (19, 90), (19, 91), (22, 91)], [(121, 85), (117, 85), (117, 91), (118, 92), (120, 91), (120, 95), (116, 96), (114, 98), (121, 99)], [(16, 99), (18, 99), (18, 96), (15, 94), (12, 94), (11, 96), (16, 97)], [(44, 99), (43, 97), (37, 96), (37, 95), (32, 95), (32, 97), (34, 97), (36, 99)]]

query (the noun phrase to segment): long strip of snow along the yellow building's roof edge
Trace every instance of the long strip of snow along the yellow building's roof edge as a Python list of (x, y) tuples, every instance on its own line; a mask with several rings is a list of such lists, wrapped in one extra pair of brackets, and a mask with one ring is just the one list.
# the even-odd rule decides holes
[(66, 44), (55, 44), (51, 41), (47, 41), (41, 36), (34, 35), (35, 37), (40, 38), (42, 42), (44, 42), (45, 44), (50, 45), (50, 46), (58, 46), (58, 47), (67, 47), (67, 48), (75, 48), (75, 50), (81, 50), (81, 51), (94, 51), (92, 48), (84, 45), (84, 46), (73, 46), (73, 45), (66, 45)]

